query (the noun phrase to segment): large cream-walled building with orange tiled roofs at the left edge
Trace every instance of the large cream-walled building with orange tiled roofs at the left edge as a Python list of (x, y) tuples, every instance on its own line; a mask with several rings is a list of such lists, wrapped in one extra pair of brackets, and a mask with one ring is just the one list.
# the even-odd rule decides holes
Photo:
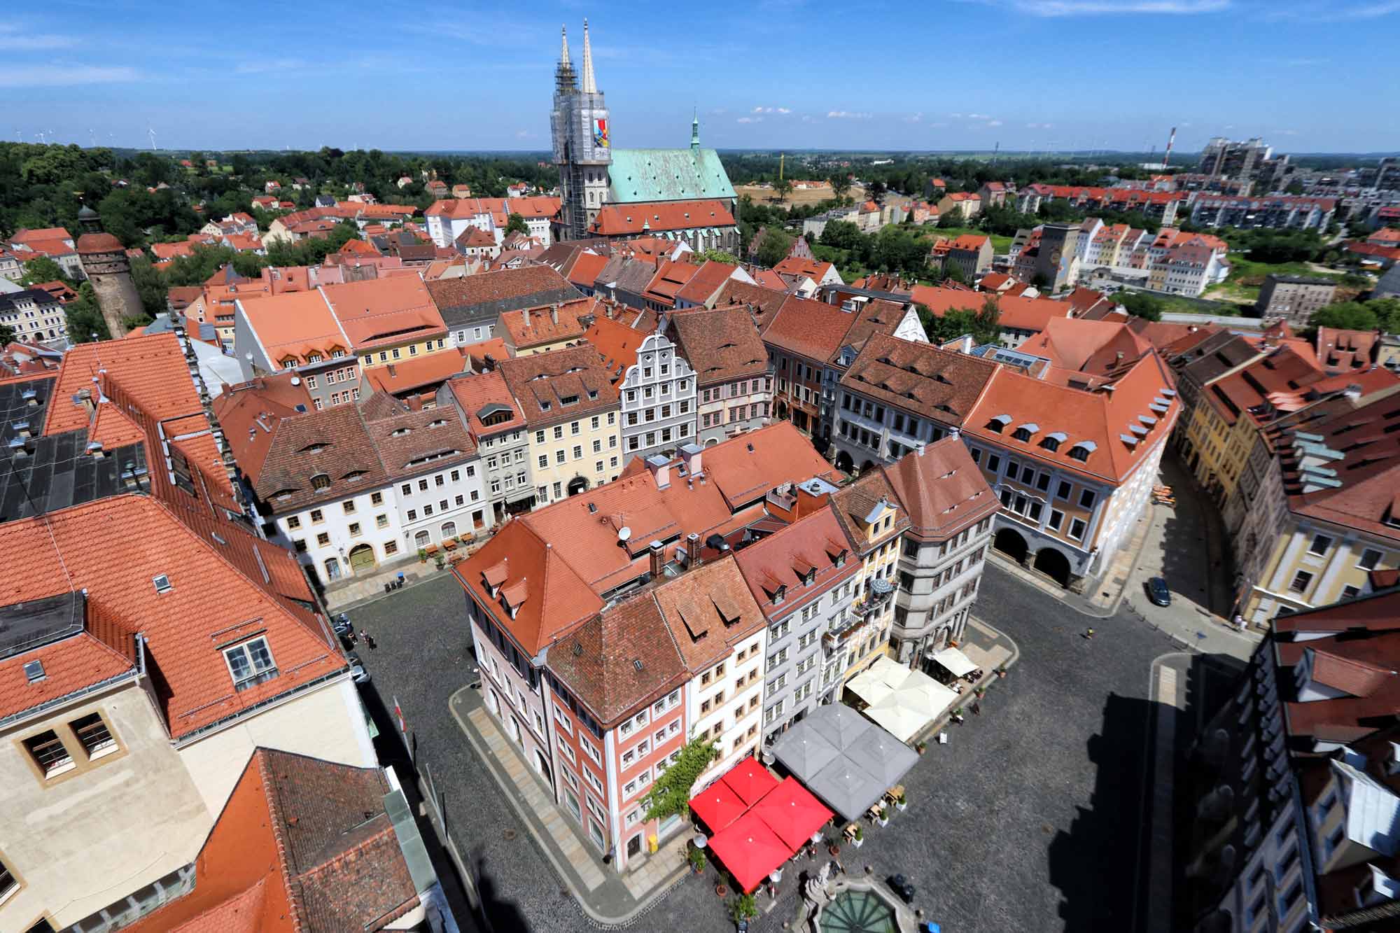
[(25, 827), (0, 852), (0, 929), (111, 929), (188, 890), (255, 744), (374, 763), (349, 665), (295, 560), (253, 532), (196, 373), (160, 333), (0, 385), (0, 822)]

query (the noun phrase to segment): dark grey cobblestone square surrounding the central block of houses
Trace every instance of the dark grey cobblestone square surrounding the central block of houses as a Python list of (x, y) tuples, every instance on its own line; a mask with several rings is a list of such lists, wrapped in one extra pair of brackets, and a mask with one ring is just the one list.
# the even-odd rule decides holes
[[(916, 906), (945, 930), (1138, 929), (1158, 720), (1151, 664), (1173, 643), (1123, 612), (1084, 616), (995, 566), (977, 608), (1016, 643), (1015, 667), (993, 681), (980, 716), (951, 727), (948, 745), (930, 745), (904, 780), (909, 810), (871, 828), (860, 850), (843, 849), (841, 862), (848, 871), (869, 864), (881, 877), (904, 874), (918, 891)], [(365, 695), (381, 728), (393, 728), (396, 702), (496, 929), (595, 929), (535, 841), (542, 827), (528, 825), (532, 818), (501, 790), (533, 776), (503, 778), (500, 759), (489, 766), (463, 730), (470, 703), (458, 696), (454, 705), (454, 696), (476, 675), (456, 581), (428, 576), (351, 618), (378, 646), (361, 644), (360, 654), (374, 675)], [(1093, 640), (1084, 637), (1091, 623)], [(671, 874), (664, 856), (655, 857), (659, 877)], [(566, 871), (585, 888), (595, 883), (591, 906), (608, 915), (609, 898), (624, 899), (631, 878), (608, 873), (596, 883), (589, 869), (580, 860)], [(634, 918), (637, 929), (732, 929), (713, 871), (676, 877), (644, 920)], [(790, 871), (753, 929), (778, 929), (795, 915), (794, 881)]]

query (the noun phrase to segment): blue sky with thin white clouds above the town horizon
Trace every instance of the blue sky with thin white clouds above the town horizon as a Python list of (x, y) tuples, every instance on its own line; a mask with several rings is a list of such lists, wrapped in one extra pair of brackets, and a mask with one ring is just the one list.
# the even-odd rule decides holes
[(545, 148), (587, 15), (616, 146), (1400, 150), (1400, 0), (27, 7), (0, 139)]

